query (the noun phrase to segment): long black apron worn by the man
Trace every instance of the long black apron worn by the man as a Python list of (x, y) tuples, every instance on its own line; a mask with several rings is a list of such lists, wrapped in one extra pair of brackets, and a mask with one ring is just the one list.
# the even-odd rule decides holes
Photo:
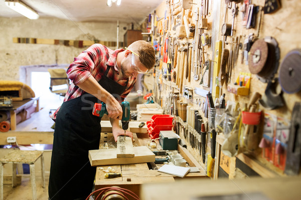
[[(116, 98), (125, 91), (107, 77), (110, 66), (99, 84)], [(57, 113), (49, 177), (50, 199), (86, 199), (91, 193), (96, 167), (89, 162), (89, 150), (99, 149), (100, 117), (92, 115), (94, 103), (100, 103), (91, 94), (66, 101)]]

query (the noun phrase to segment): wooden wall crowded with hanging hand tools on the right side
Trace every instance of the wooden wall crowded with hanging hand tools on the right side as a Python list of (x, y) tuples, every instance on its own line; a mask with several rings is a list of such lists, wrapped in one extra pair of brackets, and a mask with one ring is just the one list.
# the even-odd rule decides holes
[(155, 100), (209, 176), (234, 177), (242, 155), (299, 173), (300, 10), (298, 0), (167, 0), (149, 15)]

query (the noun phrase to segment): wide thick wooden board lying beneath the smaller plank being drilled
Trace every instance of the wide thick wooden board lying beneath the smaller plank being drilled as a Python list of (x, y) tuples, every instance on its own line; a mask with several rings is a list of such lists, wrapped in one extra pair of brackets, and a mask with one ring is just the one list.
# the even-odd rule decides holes
[(92, 166), (111, 165), (111, 164), (132, 164), (142, 162), (154, 162), (155, 154), (146, 146), (133, 147), (135, 157), (117, 158), (117, 150), (98, 149), (89, 151), (89, 160)]

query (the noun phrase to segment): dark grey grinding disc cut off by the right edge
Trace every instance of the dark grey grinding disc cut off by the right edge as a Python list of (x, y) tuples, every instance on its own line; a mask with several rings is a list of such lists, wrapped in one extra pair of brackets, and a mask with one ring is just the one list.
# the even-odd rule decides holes
[(279, 70), (279, 82), (284, 92), (291, 94), (301, 90), (301, 49), (290, 51)]

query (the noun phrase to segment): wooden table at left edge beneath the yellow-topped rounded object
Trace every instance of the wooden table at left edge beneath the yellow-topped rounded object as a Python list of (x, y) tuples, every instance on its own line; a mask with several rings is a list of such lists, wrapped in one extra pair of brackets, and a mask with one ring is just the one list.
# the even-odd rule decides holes
[(24, 108), (29, 107), (35, 101), (37, 101), (36, 112), (38, 112), (39, 111), (39, 97), (24, 99), (22, 101), (13, 101), (13, 107), (12, 108), (0, 108), (0, 111), (10, 111), (10, 113), (11, 113), (11, 130), (16, 130), (16, 127), (17, 127), (17, 119), (16, 119), (17, 113), (22, 111)]

